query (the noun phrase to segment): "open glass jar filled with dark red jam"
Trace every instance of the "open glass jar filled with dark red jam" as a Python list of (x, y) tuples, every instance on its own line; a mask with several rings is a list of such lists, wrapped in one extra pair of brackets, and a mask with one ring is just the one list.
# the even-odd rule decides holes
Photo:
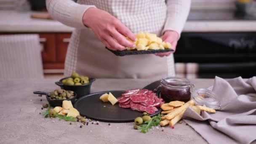
[(191, 90), (194, 86), (188, 79), (183, 77), (166, 77), (161, 80), (159, 86), (161, 87), (161, 98), (165, 102), (187, 102), (191, 98)]

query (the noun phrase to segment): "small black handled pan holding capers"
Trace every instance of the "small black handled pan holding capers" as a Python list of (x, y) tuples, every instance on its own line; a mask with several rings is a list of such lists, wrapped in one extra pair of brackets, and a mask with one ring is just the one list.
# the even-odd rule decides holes
[(51, 99), (50, 97), (47, 96), (48, 92), (43, 92), (43, 91), (34, 91), (34, 94), (42, 94), (46, 96), (47, 101), (52, 107), (62, 107), (62, 101), (67, 100), (71, 101), (72, 104), (75, 103), (75, 99), (77, 98), (77, 94), (74, 92), (74, 97), (71, 99)]

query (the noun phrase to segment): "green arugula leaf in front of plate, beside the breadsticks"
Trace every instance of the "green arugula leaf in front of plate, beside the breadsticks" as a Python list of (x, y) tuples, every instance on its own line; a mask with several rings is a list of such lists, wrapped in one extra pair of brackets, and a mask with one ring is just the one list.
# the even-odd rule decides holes
[(157, 115), (151, 118), (151, 120), (147, 120), (144, 122), (143, 125), (140, 125), (140, 127), (138, 128), (139, 130), (141, 130), (141, 133), (147, 133), (149, 132), (149, 129), (152, 128), (152, 126), (157, 126), (159, 125), (161, 121), (161, 115)]

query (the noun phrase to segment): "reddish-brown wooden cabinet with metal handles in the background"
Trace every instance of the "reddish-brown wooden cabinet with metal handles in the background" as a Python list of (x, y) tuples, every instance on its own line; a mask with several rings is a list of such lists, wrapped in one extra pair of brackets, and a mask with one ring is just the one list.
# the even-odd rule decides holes
[(38, 34), (40, 37), (44, 72), (63, 72), (71, 33), (0, 33), (0, 35), (11, 34)]

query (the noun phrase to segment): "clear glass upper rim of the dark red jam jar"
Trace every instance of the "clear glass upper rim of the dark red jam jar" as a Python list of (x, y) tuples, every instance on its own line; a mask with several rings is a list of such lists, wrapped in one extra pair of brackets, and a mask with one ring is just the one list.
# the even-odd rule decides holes
[(172, 88), (187, 88), (191, 85), (190, 81), (184, 77), (165, 77), (161, 84)]

